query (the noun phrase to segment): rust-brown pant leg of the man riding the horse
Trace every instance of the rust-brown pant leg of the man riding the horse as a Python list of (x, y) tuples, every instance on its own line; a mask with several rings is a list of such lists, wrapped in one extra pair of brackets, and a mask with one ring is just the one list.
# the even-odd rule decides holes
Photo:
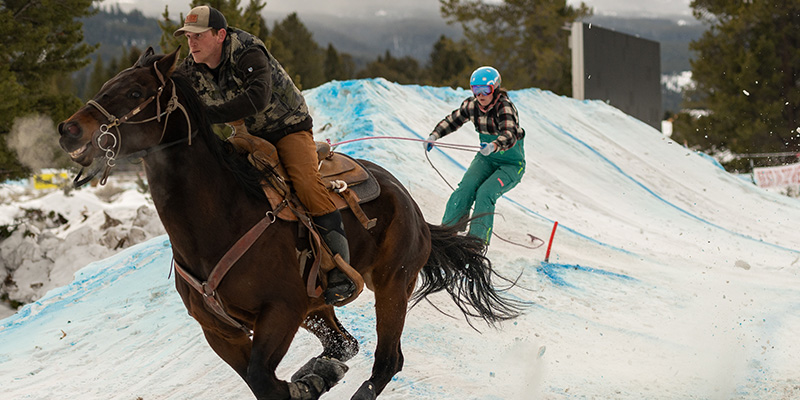
[(317, 147), (311, 132), (299, 131), (284, 136), (275, 144), (281, 164), (292, 181), (297, 197), (315, 217), (336, 211), (330, 192), (322, 183), (317, 162)]

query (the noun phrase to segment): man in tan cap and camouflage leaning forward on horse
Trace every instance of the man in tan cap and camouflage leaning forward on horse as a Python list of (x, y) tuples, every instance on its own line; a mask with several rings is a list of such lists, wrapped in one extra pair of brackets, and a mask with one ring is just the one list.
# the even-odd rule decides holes
[[(331, 253), (350, 263), (342, 216), (322, 182), (312, 120), (300, 90), (256, 36), (229, 27), (225, 16), (209, 6), (193, 8), (184, 26), (191, 57), (180, 68), (208, 106), (212, 123), (244, 120), (253, 135), (272, 143), (294, 190)], [(356, 290), (338, 268), (328, 273), (325, 301), (343, 304)]]

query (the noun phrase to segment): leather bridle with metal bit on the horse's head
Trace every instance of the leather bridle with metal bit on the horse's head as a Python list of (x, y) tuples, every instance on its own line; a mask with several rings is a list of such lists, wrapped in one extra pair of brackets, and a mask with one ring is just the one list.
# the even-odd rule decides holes
[[(102, 105), (100, 105), (100, 103), (98, 103), (98, 102), (96, 102), (94, 100), (89, 100), (89, 101), (86, 102), (87, 105), (90, 105), (90, 106), (96, 108), (98, 111), (100, 111), (101, 114), (103, 114), (108, 119), (108, 122), (105, 123), (105, 124), (100, 125), (99, 131), (95, 132), (95, 135), (93, 135), (93, 137), (92, 137), (92, 140), (95, 143), (97, 143), (97, 147), (100, 150), (105, 152), (106, 162), (105, 162), (105, 170), (103, 171), (103, 178), (100, 180), (100, 184), (101, 185), (105, 185), (106, 181), (108, 180), (108, 175), (109, 175), (109, 173), (111, 171), (111, 168), (114, 168), (116, 166), (117, 154), (118, 154), (120, 148), (122, 147), (122, 134), (119, 131), (119, 127), (122, 124), (132, 124), (132, 125), (144, 124), (144, 123), (147, 123), (147, 122), (151, 122), (153, 120), (161, 123), (161, 118), (162, 117), (164, 118), (164, 128), (161, 130), (161, 138), (159, 138), (158, 144), (153, 146), (153, 147), (150, 147), (148, 149), (140, 150), (140, 151), (137, 151), (135, 153), (131, 153), (131, 154), (125, 156), (125, 158), (141, 158), (141, 157), (144, 157), (144, 156), (146, 156), (146, 155), (148, 155), (150, 153), (153, 153), (153, 152), (156, 152), (156, 151), (159, 151), (159, 150), (163, 150), (163, 149), (165, 149), (167, 147), (174, 146), (176, 144), (183, 143), (183, 142), (186, 142), (186, 141), (189, 142), (189, 146), (192, 145), (192, 136), (194, 136), (194, 132), (192, 132), (192, 121), (189, 118), (189, 113), (186, 111), (186, 108), (183, 106), (183, 104), (181, 104), (178, 101), (178, 95), (177, 95), (176, 89), (175, 89), (175, 82), (172, 80), (172, 78), (164, 79), (164, 75), (161, 74), (161, 71), (158, 69), (158, 61), (153, 63), (153, 69), (156, 72), (156, 76), (158, 76), (158, 80), (161, 82), (161, 86), (158, 87), (158, 89), (156, 90), (156, 93), (154, 95), (148, 97), (143, 102), (139, 103), (139, 105), (134, 107), (134, 109), (132, 109), (131, 111), (129, 111), (127, 114), (123, 115), (120, 118), (115, 117), (113, 114), (108, 112), (108, 110), (106, 110)], [(172, 95), (170, 96), (169, 100), (167, 101), (166, 107), (164, 108), (164, 111), (162, 112), (161, 111), (161, 94), (164, 91), (164, 88), (167, 86), (167, 83), (171, 83), (172, 84)], [(131, 118), (133, 118), (134, 116), (139, 114), (145, 107), (147, 107), (154, 100), (156, 102), (156, 115), (154, 115), (153, 117), (147, 118), (147, 119), (143, 119), (143, 120), (137, 120), (137, 121), (131, 121), (130, 120)], [(161, 141), (164, 140), (164, 135), (167, 132), (167, 125), (168, 125), (168, 122), (169, 122), (169, 116), (176, 109), (180, 109), (183, 112), (183, 115), (184, 115), (184, 117), (186, 119), (186, 124), (187, 124), (187, 126), (189, 128), (188, 129), (188, 132), (189, 132), (188, 133), (188, 137), (185, 138), (185, 139), (179, 139), (179, 140), (176, 140), (176, 141), (173, 141), (173, 142), (170, 142), (170, 143), (161, 143)], [(113, 132), (110, 131), (112, 128), (116, 132), (116, 135)], [(106, 137), (111, 139), (111, 143), (109, 144), (109, 146), (103, 146), (103, 140)], [(100, 167), (100, 168), (102, 168), (102, 167)], [(94, 178), (94, 176), (97, 175), (98, 172), (100, 172), (100, 168), (96, 169), (95, 171), (90, 173), (89, 176), (87, 176), (87, 177), (85, 177), (83, 179), (81, 179), (81, 175), (83, 174), (83, 168), (81, 168), (80, 172), (78, 172), (78, 175), (73, 180), (74, 187), (77, 188), (77, 187), (83, 186), (84, 184), (86, 184), (87, 182), (92, 180)]]

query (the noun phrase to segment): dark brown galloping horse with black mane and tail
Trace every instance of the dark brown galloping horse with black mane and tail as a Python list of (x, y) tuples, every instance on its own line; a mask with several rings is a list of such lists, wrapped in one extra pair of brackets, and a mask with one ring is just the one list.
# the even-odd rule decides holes
[[(61, 147), (73, 161), (83, 167), (106, 165), (106, 176), (118, 158), (143, 160), (175, 262), (204, 281), (271, 210), (259, 187), (262, 175), (211, 131), (194, 90), (173, 73), (177, 59), (177, 51), (155, 55), (148, 49), (58, 130)], [(465, 316), (490, 325), (521, 310), (493, 286), (496, 275), (480, 240), (458, 235), (463, 227), (428, 224), (395, 177), (363, 163), (380, 185), (380, 196), (362, 206), (377, 225), (368, 230), (343, 212), (352, 266), (375, 294), (375, 362), (369, 380), (352, 397), (358, 400), (375, 399), (402, 369), (400, 337), (409, 303), (445, 290)], [(358, 341), (339, 323), (334, 308), (307, 294), (299, 273), (299, 241), (296, 222), (275, 220), (213, 294), (246, 329), (221, 319), (186, 280), (175, 281), (208, 344), (258, 399), (317, 399), (343, 377), (343, 362), (358, 352)], [(324, 350), (286, 382), (275, 368), (299, 327), (316, 335)]]

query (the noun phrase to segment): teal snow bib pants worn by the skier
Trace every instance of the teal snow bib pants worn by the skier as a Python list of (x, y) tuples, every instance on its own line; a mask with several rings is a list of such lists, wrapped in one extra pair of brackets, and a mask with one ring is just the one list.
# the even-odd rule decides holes
[[(519, 147), (516, 152), (514, 149)], [(472, 163), (461, 178), (458, 188), (450, 195), (442, 217), (443, 225), (455, 225), (469, 216), (473, 204), (473, 216), (478, 218), (470, 222), (469, 234), (483, 239), (489, 244), (494, 224), (494, 206), (497, 199), (516, 186), (525, 174), (524, 152), (522, 141), (509, 151), (517, 154), (475, 155)], [(483, 215), (482, 215), (483, 214)]]

